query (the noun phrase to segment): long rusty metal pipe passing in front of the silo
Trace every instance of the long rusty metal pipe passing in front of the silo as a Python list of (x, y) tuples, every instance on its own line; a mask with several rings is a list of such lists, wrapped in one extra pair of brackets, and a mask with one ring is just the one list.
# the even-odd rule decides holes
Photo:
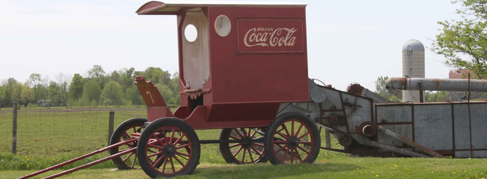
[(399, 90), (487, 92), (487, 80), (440, 79), (440, 78), (389, 78), (385, 88), (396, 95)]

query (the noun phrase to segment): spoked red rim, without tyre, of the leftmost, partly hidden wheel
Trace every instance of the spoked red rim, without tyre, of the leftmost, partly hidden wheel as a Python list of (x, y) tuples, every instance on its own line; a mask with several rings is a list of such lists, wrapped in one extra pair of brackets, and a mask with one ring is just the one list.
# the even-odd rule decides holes
[[(135, 138), (131, 134), (132, 134), (132, 132), (140, 134), (140, 132), (137, 132), (137, 128), (140, 128), (140, 127), (142, 127), (142, 125), (133, 125), (133, 126), (129, 126), (129, 127), (125, 128), (124, 132), (120, 133), (120, 135), (117, 136), (118, 142), (121, 142), (121, 139), (124, 139), (123, 141), (126, 141), (129, 139)], [(128, 148), (123, 147), (123, 146), (127, 146)], [(131, 148), (136, 148), (136, 147), (137, 147), (137, 142), (130, 142), (128, 144), (117, 147), (116, 153), (120, 153), (120, 152), (123, 152), (125, 150), (131, 149)], [(123, 148), (123, 149), (120, 150), (120, 148)], [(138, 167), (136, 167), (136, 165), (135, 165), (137, 163), (136, 151), (127, 153), (125, 155), (121, 155), (119, 158), (122, 162), (124, 162), (125, 165), (127, 165), (127, 167), (131, 167), (134, 169), (140, 169), (140, 165), (138, 165)], [(128, 162), (130, 163), (130, 165), (128, 164)]]

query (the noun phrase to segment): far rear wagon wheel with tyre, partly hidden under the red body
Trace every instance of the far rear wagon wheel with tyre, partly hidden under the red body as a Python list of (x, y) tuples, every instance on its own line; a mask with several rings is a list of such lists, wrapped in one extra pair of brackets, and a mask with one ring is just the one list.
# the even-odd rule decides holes
[[(256, 130), (260, 131), (257, 132)], [(263, 128), (227, 128), (221, 129), (220, 140), (251, 140), (261, 139)], [(221, 143), (221, 156), (229, 164), (266, 163), (267, 156), (263, 143)]]

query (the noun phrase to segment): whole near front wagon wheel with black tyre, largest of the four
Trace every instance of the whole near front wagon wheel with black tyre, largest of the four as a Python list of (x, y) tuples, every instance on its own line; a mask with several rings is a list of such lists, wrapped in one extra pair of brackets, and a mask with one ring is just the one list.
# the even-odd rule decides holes
[(196, 132), (176, 118), (161, 118), (149, 124), (137, 145), (138, 162), (153, 178), (190, 174), (198, 165), (199, 157)]

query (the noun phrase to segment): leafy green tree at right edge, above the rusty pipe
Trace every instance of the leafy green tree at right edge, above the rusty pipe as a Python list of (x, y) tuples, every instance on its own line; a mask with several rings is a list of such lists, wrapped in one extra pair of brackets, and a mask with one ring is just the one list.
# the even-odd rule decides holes
[[(432, 51), (447, 58), (445, 64), (472, 70), (477, 79), (487, 78), (487, 1), (455, 0), (461, 20), (438, 22), (442, 26), (436, 35)], [(468, 56), (464, 59), (462, 56)]]

